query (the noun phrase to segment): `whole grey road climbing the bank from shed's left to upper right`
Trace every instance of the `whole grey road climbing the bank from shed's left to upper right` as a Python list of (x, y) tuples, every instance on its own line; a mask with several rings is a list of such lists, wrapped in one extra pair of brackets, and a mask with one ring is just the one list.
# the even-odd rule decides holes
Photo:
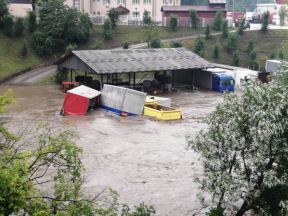
[[(251, 24), (251, 28), (246, 31), (257, 31), (261, 28), (261, 24)], [(288, 26), (275, 26), (270, 25), (270, 29), (288, 29)], [(221, 33), (213, 33), (212, 35), (220, 35)], [(172, 41), (182, 41), (182, 40), (189, 40), (194, 39), (199, 36), (204, 35), (193, 35), (193, 36), (185, 36), (185, 37), (178, 37), (178, 38), (170, 38), (170, 39), (163, 39), (161, 40), (162, 43), (172, 42)], [(139, 43), (134, 44), (130, 46), (130, 49), (140, 49), (147, 47), (147, 43)], [(122, 47), (118, 47), (116, 49), (122, 49)], [(57, 67), (56, 66), (47, 66), (39, 69), (35, 69), (29, 72), (26, 72), (25, 74), (19, 75), (12, 80), (7, 81), (5, 84), (33, 84), (37, 81), (45, 78), (46, 76), (49, 76), (53, 73), (55, 73)]]

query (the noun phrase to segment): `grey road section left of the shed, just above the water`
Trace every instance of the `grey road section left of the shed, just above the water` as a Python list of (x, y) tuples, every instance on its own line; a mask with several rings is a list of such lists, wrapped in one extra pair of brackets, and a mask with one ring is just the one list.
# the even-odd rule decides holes
[(50, 65), (42, 68), (37, 68), (21, 74), (11, 80), (8, 80), (4, 84), (33, 84), (45, 77), (52, 75), (57, 70), (57, 66)]

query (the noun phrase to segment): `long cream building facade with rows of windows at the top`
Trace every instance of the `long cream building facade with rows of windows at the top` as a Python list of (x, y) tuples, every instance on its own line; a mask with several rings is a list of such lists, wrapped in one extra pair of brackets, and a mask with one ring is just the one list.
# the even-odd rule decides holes
[(161, 22), (162, 6), (177, 6), (181, 4), (181, 0), (66, 0), (66, 4), (91, 16), (101, 17), (115, 8), (130, 20), (139, 21), (143, 19), (144, 11), (148, 11), (154, 21)]

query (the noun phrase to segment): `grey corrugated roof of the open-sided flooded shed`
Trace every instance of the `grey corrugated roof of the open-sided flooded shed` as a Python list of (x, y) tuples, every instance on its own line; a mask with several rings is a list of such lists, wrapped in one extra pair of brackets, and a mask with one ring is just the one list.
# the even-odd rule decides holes
[[(85, 50), (73, 51), (77, 58), (97, 74), (201, 69), (213, 67), (205, 59), (185, 48), (128, 49), (128, 50)], [(78, 65), (64, 57), (58, 65), (76, 69)]]

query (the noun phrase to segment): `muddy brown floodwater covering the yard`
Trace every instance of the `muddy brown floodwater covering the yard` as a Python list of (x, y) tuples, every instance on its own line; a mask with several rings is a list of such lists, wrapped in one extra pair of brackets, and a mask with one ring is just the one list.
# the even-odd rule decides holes
[(104, 110), (86, 116), (60, 116), (64, 94), (56, 86), (1, 86), (13, 90), (17, 103), (2, 119), (18, 129), (36, 121), (55, 127), (75, 128), (83, 148), (84, 190), (91, 195), (111, 187), (119, 201), (133, 206), (153, 204), (157, 215), (199, 214), (198, 186), (201, 175), (196, 153), (187, 149), (186, 135), (205, 128), (202, 122), (222, 95), (209, 91), (166, 95), (181, 107), (183, 120), (161, 122), (144, 116), (117, 117)]

